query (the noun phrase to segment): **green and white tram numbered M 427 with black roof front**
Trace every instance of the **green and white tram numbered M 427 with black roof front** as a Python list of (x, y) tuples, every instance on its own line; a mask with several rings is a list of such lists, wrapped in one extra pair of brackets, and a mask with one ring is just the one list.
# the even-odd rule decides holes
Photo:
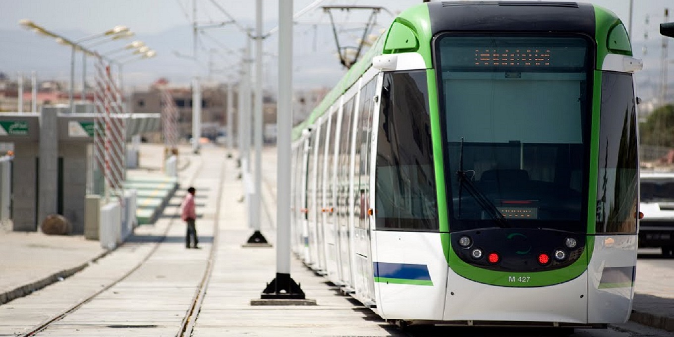
[(595, 5), (404, 11), (293, 131), (295, 253), (407, 324), (623, 323), (641, 67)]

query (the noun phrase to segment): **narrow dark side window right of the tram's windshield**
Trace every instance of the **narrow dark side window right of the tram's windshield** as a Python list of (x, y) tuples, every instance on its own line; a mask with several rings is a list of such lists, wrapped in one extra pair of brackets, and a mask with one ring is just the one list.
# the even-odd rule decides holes
[(638, 157), (632, 74), (601, 79), (596, 233), (636, 233)]

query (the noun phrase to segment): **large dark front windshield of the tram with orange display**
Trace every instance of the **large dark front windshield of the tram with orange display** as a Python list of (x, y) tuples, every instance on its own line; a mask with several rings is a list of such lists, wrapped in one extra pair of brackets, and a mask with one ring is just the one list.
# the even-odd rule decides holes
[(437, 38), (450, 231), (586, 230), (589, 55), (576, 36)]

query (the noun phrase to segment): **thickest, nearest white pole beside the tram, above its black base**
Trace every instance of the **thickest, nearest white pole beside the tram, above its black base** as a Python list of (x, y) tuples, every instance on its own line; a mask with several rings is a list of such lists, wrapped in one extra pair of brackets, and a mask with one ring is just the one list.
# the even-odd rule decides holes
[(293, 127), (293, 1), (278, 1), (276, 274), (290, 274), (290, 128)]

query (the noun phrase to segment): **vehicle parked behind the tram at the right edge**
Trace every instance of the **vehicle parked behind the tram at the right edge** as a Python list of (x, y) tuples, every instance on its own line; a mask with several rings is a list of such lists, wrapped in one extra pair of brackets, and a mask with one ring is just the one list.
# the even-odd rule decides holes
[(674, 173), (642, 172), (639, 247), (658, 247), (674, 257)]

